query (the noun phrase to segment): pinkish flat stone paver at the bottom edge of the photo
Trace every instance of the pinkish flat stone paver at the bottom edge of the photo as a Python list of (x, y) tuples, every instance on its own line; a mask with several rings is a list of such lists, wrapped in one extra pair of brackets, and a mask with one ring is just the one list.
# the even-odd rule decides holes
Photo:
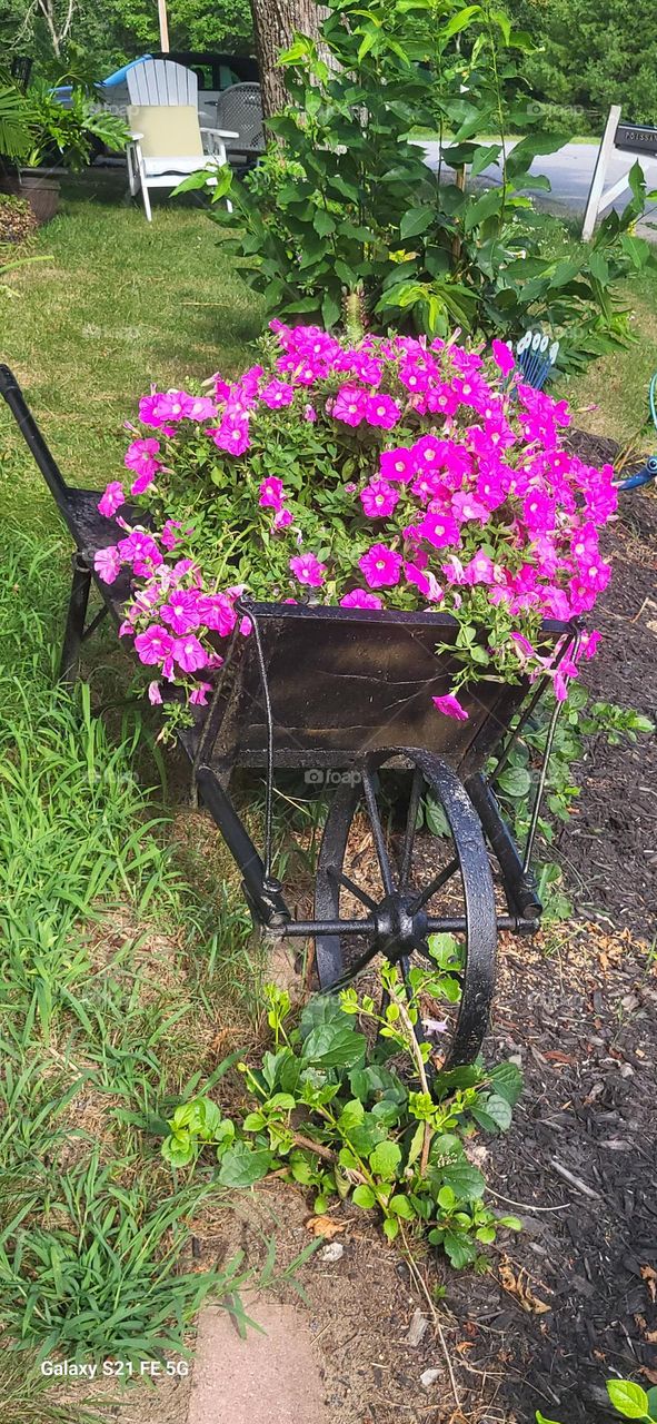
[(330, 1424), (303, 1316), (265, 1300), (246, 1310), (266, 1334), (242, 1340), (226, 1310), (201, 1313), (188, 1424)]

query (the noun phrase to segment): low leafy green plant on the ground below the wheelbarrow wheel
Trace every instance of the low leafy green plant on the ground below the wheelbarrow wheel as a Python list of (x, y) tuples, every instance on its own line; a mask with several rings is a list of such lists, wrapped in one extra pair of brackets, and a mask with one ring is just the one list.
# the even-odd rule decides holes
[[(455, 1267), (475, 1263), (501, 1226), (519, 1230), (518, 1218), (485, 1205), (485, 1180), (465, 1141), (476, 1128), (509, 1126), (520, 1074), (501, 1064), (428, 1075), (429, 1048), (414, 1035), (420, 1000), (444, 997), (449, 983), (441, 968), (448, 947), (434, 948), (435, 971), (410, 971), (408, 1001), (397, 968), (383, 970), (383, 1012), (350, 988), (340, 1002), (311, 1000), (296, 1025), (289, 995), (267, 985), (274, 1048), (260, 1068), (239, 1064), (252, 1109), (237, 1122), (205, 1095), (181, 1104), (168, 1122), (165, 1161), (193, 1169), (212, 1149), (218, 1180), (230, 1188), (283, 1169), (314, 1193), (316, 1212), (348, 1198), (380, 1215), (388, 1240), (404, 1226), (424, 1232)], [(374, 1047), (361, 1031), (368, 1025), (377, 1030)]]

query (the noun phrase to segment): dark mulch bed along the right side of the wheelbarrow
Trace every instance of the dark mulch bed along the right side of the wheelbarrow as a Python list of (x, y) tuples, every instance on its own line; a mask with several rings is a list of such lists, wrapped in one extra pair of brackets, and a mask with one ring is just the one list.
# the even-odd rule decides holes
[[(593, 437), (579, 450), (592, 463), (614, 454)], [(614, 577), (584, 681), (596, 698), (656, 718), (654, 494), (623, 497), (604, 551)], [(602, 1424), (606, 1378), (657, 1384), (657, 739), (596, 738), (579, 780), (559, 854), (590, 923), (560, 943), (555, 933), (508, 941), (488, 1045), (491, 1057), (516, 1054), (525, 1072), (512, 1131), (486, 1163), (491, 1188), (520, 1203), (508, 1209), (525, 1230), (492, 1274), (445, 1277), (472, 1418), (532, 1424), (540, 1408), (562, 1424)]]

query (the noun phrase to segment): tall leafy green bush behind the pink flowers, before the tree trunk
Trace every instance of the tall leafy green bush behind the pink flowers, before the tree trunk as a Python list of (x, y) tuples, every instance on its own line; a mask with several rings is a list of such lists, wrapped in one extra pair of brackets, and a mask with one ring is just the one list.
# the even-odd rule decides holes
[[(364, 10), (331, 0), (320, 43), (296, 36), (282, 57), (290, 104), (270, 125), (276, 159), (255, 188), (233, 181), (233, 214), (219, 201), (223, 188), (213, 194), (215, 216), (237, 229), (233, 251), (269, 310), (331, 328), (344, 293), (361, 292), (380, 329), (512, 337), (543, 322), (565, 333), (566, 363), (627, 339), (614, 283), (650, 255), (647, 245), (626, 246), (643, 206), (640, 174), (623, 218), (611, 214), (590, 251), (543, 253), (550, 219), (523, 189), (532, 159), (567, 135), (503, 145), (506, 132), (532, 122), (516, 58), (530, 48), (488, 3), (395, 0)], [(499, 142), (484, 141), (486, 132)], [(422, 138), (444, 144), (437, 172), (424, 162)], [(501, 182), (481, 192), (474, 179), (495, 161)]]

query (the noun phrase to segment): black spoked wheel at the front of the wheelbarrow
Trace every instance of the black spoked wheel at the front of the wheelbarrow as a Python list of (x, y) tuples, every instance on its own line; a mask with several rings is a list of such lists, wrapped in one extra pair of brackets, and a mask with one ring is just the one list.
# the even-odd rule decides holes
[[(400, 829), (385, 778), (398, 778), (402, 768), (410, 787)], [(445, 834), (418, 834), (427, 792), (434, 824), (438, 817)], [(316, 934), (314, 953), (320, 988), (327, 991), (371, 974), (383, 956), (400, 965), (408, 993), (411, 964), (435, 965), (431, 936), (454, 934), (461, 950), (454, 975), (461, 1000), (448, 1011), (448, 1027), (434, 1047), (444, 1068), (476, 1058), (495, 983), (495, 890), (479, 817), (445, 760), (390, 748), (368, 753), (346, 773), (324, 824), (314, 920), (326, 923), (326, 931)], [(420, 1022), (418, 1030), (424, 1037)]]

